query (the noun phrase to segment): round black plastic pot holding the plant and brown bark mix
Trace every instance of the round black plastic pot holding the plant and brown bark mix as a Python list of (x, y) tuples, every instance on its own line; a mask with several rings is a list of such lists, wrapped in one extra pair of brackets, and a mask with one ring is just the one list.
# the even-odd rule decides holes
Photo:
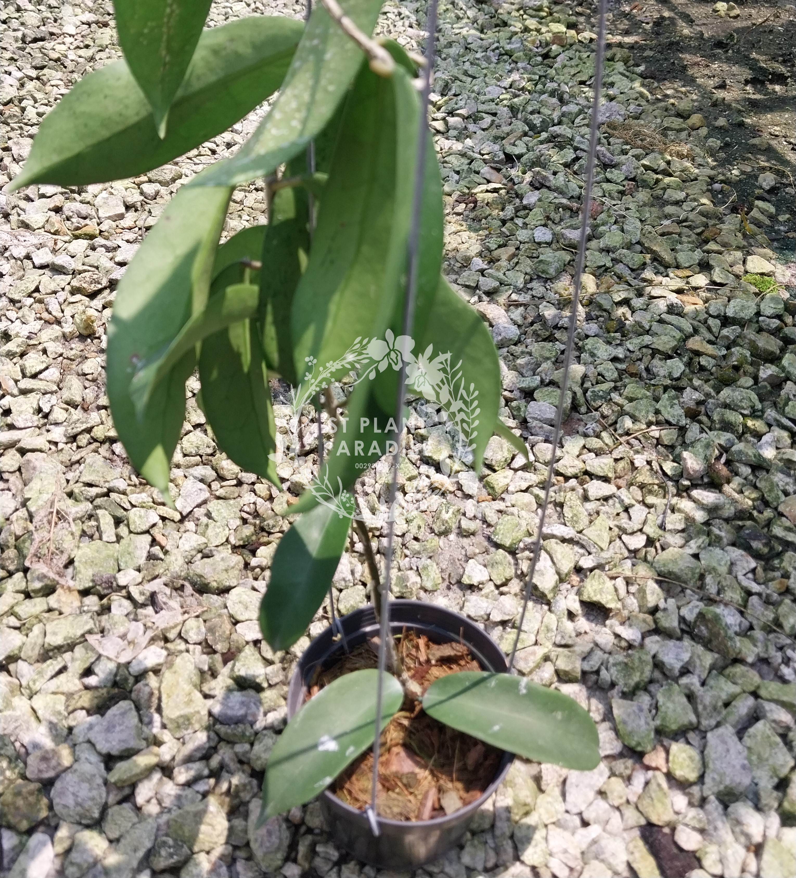
[[(376, 616), (369, 606), (343, 616), (341, 623), (349, 648), (378, 634)], [(413, 629), (438, 644), (461, 638), (485, 671), (506, 671), (506, 657), (498, 644), (469, 619), (448, 609), (420, 601), (391, 601), (390, 626), (394, 634), (399, 634), (404, 628)], [(333, 640), (331, 628), (312, 641), (290, 680), (288, 718), (305, 702), (306, 686), (316, 667), (332, 666), (343, 654), (342, 644)], [(368, 818), (362, 811), (351, 808), (328, 791), (322, 793), (319, 800), (333, 840), (357, 860), (391, 870), (416, 869), (436, 860), (462, 838), (476, 811), (506, 776), (512, 760), (511, 753), (504, 755), (494, 781), (475, 802), (454, 814), (433, 820), (406, 822), (380, 817), (381, 835), (378, 838), (370, 831)]]

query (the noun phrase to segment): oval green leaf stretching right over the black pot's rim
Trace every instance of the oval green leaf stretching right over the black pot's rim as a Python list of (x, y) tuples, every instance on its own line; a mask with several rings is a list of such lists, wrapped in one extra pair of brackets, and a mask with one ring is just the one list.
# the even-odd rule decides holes
[(440, 723), (526, 759), (576, 771), (599, 765), (592, 717), (569, 695), (525, 677), (451, 673), (427, 688), (423, 709)]

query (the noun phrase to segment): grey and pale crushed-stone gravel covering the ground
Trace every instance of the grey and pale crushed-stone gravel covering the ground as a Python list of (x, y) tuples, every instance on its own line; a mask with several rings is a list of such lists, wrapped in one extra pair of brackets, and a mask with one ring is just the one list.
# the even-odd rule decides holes
[[(388, 4), (382, 32), (416, 47), (418, 8)], [(111, 11), (0, 8), (0, 184), (54, 101), (118, 57)], [(301, 6), (217, 3), (212, 24), (263, 11)], [(501, 414), (532, 459), (492, 439), (480, 476), (451, 476), (452, 437), (416, 405), (396, 592), (461, 610), (506, 647), (553, 453), (590, 15), (548, 0), (441, 8), (445, 268), (491, 326)], [(794, 192), (765, 172), (754, 208), (733, 212), (709, 109), (650, 97), (627, 50), (609, 59), (567, 435), (518, 653), (521, 673), (590, 710), (603, 761), (518, 760), (421, 878), (796, 874), (796, 271), (766, 246), (790, 220), (774, 202)], [(256, 612), (311, 471), (312, 413), (277, 407), (277, 492), (218, 453), (191, 379), (173, 511), (131, 470), (104, 393), (104, 327), (141, 234), (257, 118), (134, 180), (0, 197), (3, 878), (375, 878), (328, 840), (317, 804), (255, 827), (307, 643), (269, 650)], [(226, 234), (264, 207), (262, 186), (237, 192)], [(291, 457), (305, 427), (308, 453)], [(358, 488), (374, 533), (387, 475), (379, 464)], [(367, 584), (355, 542), (340, 613)]]

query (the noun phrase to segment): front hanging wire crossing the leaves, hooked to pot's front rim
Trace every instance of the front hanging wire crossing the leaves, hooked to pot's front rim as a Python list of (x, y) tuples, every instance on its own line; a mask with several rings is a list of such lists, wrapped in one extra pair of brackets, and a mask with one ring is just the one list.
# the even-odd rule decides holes
[[(426, 76), (420, 92), (420, 125), (418, 126), (418, 151), (414, 167), (414, 191), (412, 192), (412, 216), (407, 241), (407, 280), (404, 299), (404, 335), (412, 334), (414, 306), (418, 287), (418, 250), (420, 245), (420, 212), (423, 205), (423, 184), (426, 175), (426, 151), (428, 148), (428, 100), (431, 94), (431, 76), (434, 70), (434, 35), (437, 29), (437, 0), (429, 0), (426, 17), (428, 41), (426, 45)], [(403, 436), (404, 401), (406, 395), (406, 365), (401, 362), (398, 373), (398, 395), (396, 399), (395, 422), (398, 424), (398, 442), (392, 455), (392, 478), (390, 482), (390, 517), (387, 529), (387, 549), (384, 552), (384, 579), (382, 581), (382, 615), (379, 620), (378, 677), (376, 678), (376, 737), (373, 742), (373, 774), (370, 781), (370, 804), (366, 809), (370, 831), (374, 836), (381, 834), (376, 810), (376, 790), (378, 788), (378, 759), (382, 737), (382, 702), (384, 695), (384, 670), (387, 663), (387, 638), (390, 637), (390, 586), (392, 574), (393, 539), (395, 536), (395, 515), (393, 507), (398, 494), (398, 464), (401, 458), (401, 437)]]

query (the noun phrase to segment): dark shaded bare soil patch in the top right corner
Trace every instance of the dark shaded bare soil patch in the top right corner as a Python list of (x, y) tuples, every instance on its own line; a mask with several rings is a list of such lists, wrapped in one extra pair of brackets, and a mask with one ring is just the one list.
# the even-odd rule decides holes
[[(739, 205), (756, 198), (793, 214), (796, 181), (796, 12), (785, 4), (738, 0), (740, 14), (721, 18), (705, 0), (624, 0), (614, 8), (609, 42), (643, 64), (643, 83), (670, 103), (692, 97), (714, 155)], [(592, 6), (592, 9), (596, 7)], [(764, 190), (764, 172), (778, 183)], [(788, 191), (790, 190), (790, 191)], [(775, 220), (766, 234), (793, 258), (796, 222)]]

